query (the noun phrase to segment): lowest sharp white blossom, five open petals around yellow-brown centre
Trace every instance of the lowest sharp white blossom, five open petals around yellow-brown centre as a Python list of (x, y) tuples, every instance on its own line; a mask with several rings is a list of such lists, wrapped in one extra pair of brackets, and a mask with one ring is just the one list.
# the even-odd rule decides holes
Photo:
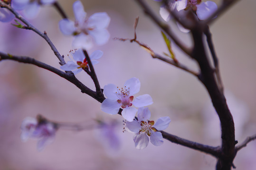
[(169, 126), (171, 119), (169, 117), (161, 117), (154, 121), (150, 121), (151, 113), (148, 108), (139, 108), (138, 120), (126, 122), (126, 127), (135, 135), (133, 141), (137, 149), (144, 149), (150, 142), (155, 146), (163, 144), (163, 137), (159, 130), (164, 130)]

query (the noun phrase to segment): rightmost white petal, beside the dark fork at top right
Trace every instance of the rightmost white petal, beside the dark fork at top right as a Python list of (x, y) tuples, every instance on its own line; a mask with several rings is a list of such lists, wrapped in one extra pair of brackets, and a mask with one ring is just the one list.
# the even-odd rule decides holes
[(199, 5), (197, 5), (197, 16), (200, 20), (205, 20), (210, 17), (217, 9), (218, 6), (215, 2), (201, 2)]

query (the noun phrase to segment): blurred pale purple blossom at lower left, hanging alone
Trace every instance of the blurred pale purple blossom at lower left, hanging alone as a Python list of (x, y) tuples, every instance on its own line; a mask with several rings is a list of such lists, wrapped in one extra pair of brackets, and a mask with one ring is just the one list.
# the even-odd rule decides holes
[(41, 151), (47, 144), (51, 144), (54, 140), (57, 128), (53, 123), (40, 122), (35, 118), (26, 118), (22, 121), (21, 139), (26, 142), (28, 138), (38, 139), (38, 151)]

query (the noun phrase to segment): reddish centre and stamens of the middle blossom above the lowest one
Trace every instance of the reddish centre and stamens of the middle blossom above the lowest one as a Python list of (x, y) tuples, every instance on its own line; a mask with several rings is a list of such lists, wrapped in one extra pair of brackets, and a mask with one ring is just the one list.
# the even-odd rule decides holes
[(115, 92), (118, 96), (118, 103), (122, 103), (122, 108), (126, 108), (126, 106), (130, 107), (133, 105), (133, 103), (131, 103), (133, 101), (133, 96), (130, 96), (130, 88), (128, 87), (128, 89), (126, 88), (126, 86), (124, 86), (124, 88), (118, 88), (117, 87), (117, 92)]

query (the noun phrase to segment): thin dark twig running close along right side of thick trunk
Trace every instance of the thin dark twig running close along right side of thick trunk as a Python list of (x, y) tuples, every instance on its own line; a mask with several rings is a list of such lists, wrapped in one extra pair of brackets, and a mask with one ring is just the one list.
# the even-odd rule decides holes
[(208, 46), (209, 46), (209, 49), (210, 49), (210, 52), (211, 52), (211, 56), (212, 56), (212, 59), (213, 59), (213, 62), (214, 62), (214, 67), (215, 67), (215, 73), (216, 73), (216, 77), (217, 77), (217, 81), (218, 81), (218, 86), (219, 86), (220, 91), (223, 93), (224, 87), (223, 87), (220, 72), (219, 72), (218, 57), (217, 57), (215, 49), (214, 49), (214, 45), (213, 45), (213, 42), (212, 42), (209, 26), (206, 26), (204, 34), (206, 35), (207, 43), (208, 43)]

